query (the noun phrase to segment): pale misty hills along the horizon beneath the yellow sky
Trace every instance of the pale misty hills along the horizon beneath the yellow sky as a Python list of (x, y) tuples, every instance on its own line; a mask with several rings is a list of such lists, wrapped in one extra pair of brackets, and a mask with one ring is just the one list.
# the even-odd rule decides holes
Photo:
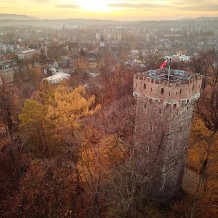
[(60, 28), (63, 25), (68, 27), (73, 26), (176, 26), (181, 25), (215, 25), (217, 26), (218, 17), (198, 17), (198, 18), (183, 18), (177, 20), (135, 20), (135, 21), (119, 21), (119, 20), (103, 20), (103, 19), (88, 19), (88, 18), (68, 18), (68, 19), (40, 19), (18, 14), (0, 14), (0, 27), (11, 26), (41, 26)]

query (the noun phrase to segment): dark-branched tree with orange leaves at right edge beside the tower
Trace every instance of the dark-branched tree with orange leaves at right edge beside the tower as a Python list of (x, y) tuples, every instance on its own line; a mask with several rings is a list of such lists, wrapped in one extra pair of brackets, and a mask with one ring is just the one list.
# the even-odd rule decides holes
[(208, 185), (211, 182), (207, 179), (208, 173), (210, 172), (210, 177), (213, 177), (213, 173), (211, 174), (210, 171), (210, 162), (214, 161), (213, 152), (216, 150), (218, 140), (218, 67), (216, 57), (216, 54), (210, 51), (204, 53), (198, 59), (199, 63), (204, 63), (203, 69), (200, 69), (200, 73), (204, 76), (204, 83), (201, 97), (196, 106), (192, 137), (195, 139), (195, 143), (197, 142), (200, 145), (199, 147), (201, 147), (201, 156), (198, 158), (200, 162), (200, 178), (191, 217), (195, 215), (198, 201), (208, 192), (206, 190), (209, 190)]

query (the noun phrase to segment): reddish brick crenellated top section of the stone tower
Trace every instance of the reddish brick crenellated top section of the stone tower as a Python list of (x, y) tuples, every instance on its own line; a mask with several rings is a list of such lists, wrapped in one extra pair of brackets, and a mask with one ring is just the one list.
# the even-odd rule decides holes
[(138, 97), (149, 97), (166, 103), (194, 101), (200, 96), (202, 76), (182, 70), (149, 70), (134, 76), (133, 90)]

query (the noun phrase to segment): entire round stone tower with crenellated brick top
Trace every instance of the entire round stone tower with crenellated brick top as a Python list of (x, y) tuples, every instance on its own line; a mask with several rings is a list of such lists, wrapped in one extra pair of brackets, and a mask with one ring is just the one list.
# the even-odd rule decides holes
[(181, 187), (188, 135), (202, 77), (182, 70), (149, 70), (134, 76), (135, 144), (143, 154), (147, 193), (165, 201)]

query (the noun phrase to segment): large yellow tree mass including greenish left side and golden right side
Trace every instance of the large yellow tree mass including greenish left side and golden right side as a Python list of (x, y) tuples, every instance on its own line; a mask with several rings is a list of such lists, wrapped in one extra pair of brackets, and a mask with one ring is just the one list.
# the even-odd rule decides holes
[(44, 151), (54, 148), (57, 142), (63, 145), (69, 137), (74, 138), (82, 120), (100, 109), (99, 105), (94, 105), (94, 96), (85, 97), (82, 86), (74, 90), (63, 86), (44, 90), (36, 93), (35, 99), (25, 101), (19, 118), (31, 143), (31, 136), (38, 132), (38, 142)]

